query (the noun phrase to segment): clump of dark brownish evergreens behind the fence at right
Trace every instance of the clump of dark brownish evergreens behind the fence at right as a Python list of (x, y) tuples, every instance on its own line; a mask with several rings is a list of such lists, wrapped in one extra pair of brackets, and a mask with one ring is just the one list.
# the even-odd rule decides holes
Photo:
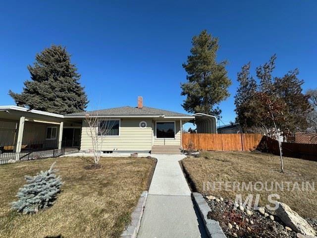
[[(305, 130), (308, 126), (307, 115), (310, 112), (308, 97), (302, 92), (303, 80), (298, 79), (298, 69), (289, 71), (283, 77), (273, 77), (272, 71), (275, 68), (276, 56), (256, 69), (259, 85), (250, 77), (250, 65), (244, 65), (242, 71), (238, 73), (240, 87), (235, 96), (235, 112), (237, 121), (244, 130), (252, 127), (273, 127), (271, 120), (265, 119), (267, 105), (259, 95), (265, 95), (272, 105), (284, 105), (279, 109), (280, 118), (274, 117), (278, 129), (284, 132), (294, 132)], [(254, 89), (256, 93), (252, 93)]]

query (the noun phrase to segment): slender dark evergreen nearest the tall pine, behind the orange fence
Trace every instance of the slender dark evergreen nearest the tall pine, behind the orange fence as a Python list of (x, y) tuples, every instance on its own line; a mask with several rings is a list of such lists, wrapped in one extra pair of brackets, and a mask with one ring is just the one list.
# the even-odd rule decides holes
[(240, 86), (234, 97), (235, 112), (237, 114), (236, 121), (240, 122), (244, 132), (246, 132), (247, 128), (256, 124), (258, 120), (254, 113), (257, 110), (256, 92), (258, 86), (256, 80), (250, 76), (250, 65), (250, 62), (243, 65), (241, 72), (238, 73), (237, 80)]

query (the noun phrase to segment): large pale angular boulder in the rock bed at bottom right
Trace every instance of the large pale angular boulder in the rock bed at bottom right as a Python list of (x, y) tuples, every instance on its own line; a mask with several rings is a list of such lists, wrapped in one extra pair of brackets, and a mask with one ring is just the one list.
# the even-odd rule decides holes
[(316, 236), (316, 232), (309, 223), (302, 218), (297, 212), (293, 211), (288, 205), (278, 202), (276, 215), (285, 223), (286, 226), (295, 232), (303, 235)]

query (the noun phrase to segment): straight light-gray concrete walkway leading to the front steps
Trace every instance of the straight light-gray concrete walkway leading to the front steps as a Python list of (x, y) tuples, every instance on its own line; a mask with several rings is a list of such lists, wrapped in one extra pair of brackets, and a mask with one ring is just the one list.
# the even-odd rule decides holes
[[(151, 155), (158, 159), (138, 238), (205, 238), (191, 191), (180, 168), (183, 155)], [(197, 213), (198, 214), (198, 213)]]

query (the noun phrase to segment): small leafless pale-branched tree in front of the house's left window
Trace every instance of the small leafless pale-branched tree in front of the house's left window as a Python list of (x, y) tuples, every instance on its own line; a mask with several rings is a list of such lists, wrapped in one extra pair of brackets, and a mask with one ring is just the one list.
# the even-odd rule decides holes
[(93, 164), (98, 166), (103, 144), (106, 139), (106, 135), (110, 132), (114, 125), (115, 120), (111, 120), (110, 118), (100, 117), (99, 111), (93, 111), (91, 113), (87, 113), (85, 115), (86, 122), (88, 124), (88, 136), (91, 138), (93, 152), (94, 152), (94, 160)]

